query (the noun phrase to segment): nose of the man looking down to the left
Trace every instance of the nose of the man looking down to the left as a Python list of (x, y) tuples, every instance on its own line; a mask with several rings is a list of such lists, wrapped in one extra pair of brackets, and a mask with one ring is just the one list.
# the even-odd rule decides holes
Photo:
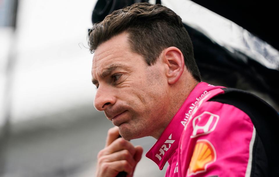
[(98, 111), (104, 111), (109, 106), (112, 106), (116, 102), (116, 97), (112, 90), (99, 86), (97, 89), (94, 106)]

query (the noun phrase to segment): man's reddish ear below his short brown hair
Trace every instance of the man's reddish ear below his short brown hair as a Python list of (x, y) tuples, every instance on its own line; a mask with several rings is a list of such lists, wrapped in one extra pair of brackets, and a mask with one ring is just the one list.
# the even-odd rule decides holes
[(165, 66), (165, 75), (169, 84), (175, 84), (184, 71), (184, 57), (176, 47), (166, 48), (161, 54)]

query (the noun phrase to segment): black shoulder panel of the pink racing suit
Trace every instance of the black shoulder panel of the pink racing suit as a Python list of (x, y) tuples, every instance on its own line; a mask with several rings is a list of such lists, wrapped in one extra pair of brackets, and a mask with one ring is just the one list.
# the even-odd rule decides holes
[(244, 111), (252, 120), (256, 133), (262, 141), (268, 160), (269, 176), (279, 174), (279, 115), (264, 100), (238, 89), (223, 88), (219, 94), (209, 101), (230, 104)]

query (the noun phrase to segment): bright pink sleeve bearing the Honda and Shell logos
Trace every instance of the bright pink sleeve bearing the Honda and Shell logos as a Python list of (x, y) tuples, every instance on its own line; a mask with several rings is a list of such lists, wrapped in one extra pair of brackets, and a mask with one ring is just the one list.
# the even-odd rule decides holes
[(255, 128), (249, 116), (210, 101), (193, 113), (180, 139), (179, 176), (250, 176)]

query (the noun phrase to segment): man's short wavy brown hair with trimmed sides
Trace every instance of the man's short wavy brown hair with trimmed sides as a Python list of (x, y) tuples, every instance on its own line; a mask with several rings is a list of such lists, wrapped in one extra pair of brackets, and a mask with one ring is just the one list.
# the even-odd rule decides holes
[(91, 52), (94, 53), (101, 43), (122, 32), (128, 33), (130, 48), (142, 55), (149, 66), (156, 63), (165, 48), (179, 48), (187, 70), (197, 81), (201, 81), (192, 41), (174, 11), (149, 3), (135, 3), (115, 10), (103, 21), (93, 24), (88, 41)]

